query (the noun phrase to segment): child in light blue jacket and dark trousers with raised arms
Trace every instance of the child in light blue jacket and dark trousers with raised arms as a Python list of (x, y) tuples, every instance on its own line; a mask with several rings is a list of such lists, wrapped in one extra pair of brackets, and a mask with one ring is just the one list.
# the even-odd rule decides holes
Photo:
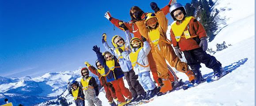
[[(122, 27), (125, 31), (129, 31), (123, 22), (119, 22), (119, 27)], [(129, 43), (126, 43), (122, 37), (115, 35), (112, 38), (112, 45), (114, 46), (114, 48), (112, 48), (107, 44), (106, 38), (107, 38), (107, 35), (103, 34), (103, 38), (102, 38), (103, 45), (108, 52), (114, 54), (115, 57), (118, 58), (118, 63), (120, 64), (120, 67), (123, 71), (125, 79), (129, 85), (130, 92), (132, 93), (131, 102), (134, 102), (134, 101), (138, 102), (142, 100), (143, 98), (145, 98), (145, 95), (146, 95), (145, 91), (143, 87), (141, 87), (141, 84), (139, 83), (139, 81), (137, 80), (138, 76), (135, 75), (131, 62), (123, 58), (121, 55), (122, 51), (126, 51), (128, 53), (131, 52)], [(126, 35), (126, 39), (128, 42), (130, 41), (131, 39), (130, 33)]]

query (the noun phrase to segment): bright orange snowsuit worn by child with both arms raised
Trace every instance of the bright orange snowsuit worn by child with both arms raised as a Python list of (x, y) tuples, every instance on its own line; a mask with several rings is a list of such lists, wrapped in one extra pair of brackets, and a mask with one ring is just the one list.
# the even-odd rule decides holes
[[(156, 13), (156, 18), (159, 23), (156, 30), (158, 31), (158, 35), (150, 35), (150, 30), (145, 25), (145, 20), (137, 21), (136, 25), (139, 29), (139, 32), (141, 35), (149, 39), (150, 45), (152, 47), (152, 54), (153, 59), (156, 62), (157, 66), (157, 72), (158, 77), (163, 79), (168, 79), (168, 68), (165, 59), (168, 61), (168, 63), (176, 68), (176, 70), (180, 72), (187, 72), (188, 66), (186, 63), (181, 62), (179, 57), (176, 56), (172, 46), (171, 42), (168, 42), (168, 39), (166, 37), (166, 31), (168, 27), (168, 19), (166, 19), (163, 11), (158, 11)], [(151, 36), (151, 37), (150, 37)], [(158, 36), (158, 42), (157, 44), (154, 44), (153, 36)]]

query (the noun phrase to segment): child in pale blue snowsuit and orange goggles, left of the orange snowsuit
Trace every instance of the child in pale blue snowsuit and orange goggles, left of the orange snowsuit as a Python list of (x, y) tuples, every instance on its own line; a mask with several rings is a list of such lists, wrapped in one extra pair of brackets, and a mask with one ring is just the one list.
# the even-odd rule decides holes
[(149, 54), (151, 47), (144, 37), (142, 37), (142, 39), (143, 43), (139, 38), (132, 38), (130, 40), (132, 53), (129, 54), (124, 51), (122, 52), (122, 56), (131, 61), (135, 74), (139, 76), (139, 82), (144, 90), (148, 92), (147, 97), (152, 98), (157, 94), (157, 87), (149, 74), (150, 67), (147, 55)]

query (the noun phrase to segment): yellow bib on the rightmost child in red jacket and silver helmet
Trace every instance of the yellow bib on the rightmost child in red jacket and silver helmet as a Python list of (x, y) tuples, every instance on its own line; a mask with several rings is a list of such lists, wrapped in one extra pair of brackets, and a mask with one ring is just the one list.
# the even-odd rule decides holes
[(185, 28), (187, 27), (187, 24), (190, 22), (192, 18), (194, 17), (193, 16), (186, 17), (180, 25), (177, 25), (176, 21), (172, 24), (172, 31), (174, 33), (174, 36), (177, 42), (180, 41), (181, 35), (183, 34)]

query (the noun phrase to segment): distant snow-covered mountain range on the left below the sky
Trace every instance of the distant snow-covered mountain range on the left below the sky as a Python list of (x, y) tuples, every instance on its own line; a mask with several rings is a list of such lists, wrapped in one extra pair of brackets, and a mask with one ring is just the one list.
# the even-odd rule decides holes
[[(92, 73), (90, 73), (92, 74)], [(8, 98), (14, 105), (32, 106), (57, 98), (67, 86), (67, 82), (80, 78), (80, 68), (75, 71), (50, 72), (31, 78), (0, 77), (0, 104)], [(99, 80), (97, 80), (99, 83)]]

